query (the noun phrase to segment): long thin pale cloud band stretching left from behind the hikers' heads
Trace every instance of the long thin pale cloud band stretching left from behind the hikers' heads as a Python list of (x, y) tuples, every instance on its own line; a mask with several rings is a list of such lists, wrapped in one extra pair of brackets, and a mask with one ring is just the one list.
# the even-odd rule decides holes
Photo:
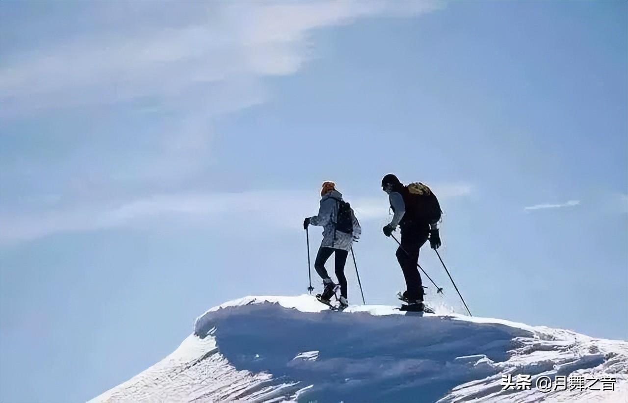
[[(465, 196), (460, 184), (441, 185), (441, 201)], [(434, 186), (436, 191), (437, 186)], [(470, 191), (472, 187), (468, 186)], [(360, 222), (386, 218), (388, 199), (355, 197), (349, 200)], [(0, 212), (0, 244), (26, 242), (48, 235), (80, 233), (125, 227), (137, 222), (159, 225), (174, 217), (185, 225), (210, 227), (227, 217), (235, 226), (269, 225), (301, 228), (302, 218), (317, 212), (316, 192), (300, 190), (242, 191), (224, 193), (176, 193), (153, 195), (132, 201), (87, 203), (38, 213)], [(187, 220), (186, 218), (190, 218)], [(242, 222), (244, 220), (244, 222)]]

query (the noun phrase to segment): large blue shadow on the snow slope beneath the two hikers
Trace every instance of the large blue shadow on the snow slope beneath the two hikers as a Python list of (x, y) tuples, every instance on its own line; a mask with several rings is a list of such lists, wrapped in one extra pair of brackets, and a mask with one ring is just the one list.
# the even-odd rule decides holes
[(195, 334), (205, 338), (210, 331), (238, 370), (313, 385), (299, 400), (319, 402), (433, 402), (457, 385), (494, 375), (492, 362), (507, 360), (512, 339), (532, 336), (441, 316), (304, 313), (273, 303), (208, 312)]

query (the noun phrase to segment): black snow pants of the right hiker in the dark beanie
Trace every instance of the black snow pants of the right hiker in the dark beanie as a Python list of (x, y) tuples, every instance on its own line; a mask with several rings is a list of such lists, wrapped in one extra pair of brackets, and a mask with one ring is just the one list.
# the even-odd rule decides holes
[[(401, 227), (401, 246), (397, 249), (397, 260), (406, 279), (408, 297), (423, 300), (423, 284), (421, 274), (416, 265), (419, 262), (419, 250), (428, 240), (429, 225), (409, 225)], [(404, 252), (405, 250), (405, 252)], [(407, 253), (406, 253), (407, 252)]]

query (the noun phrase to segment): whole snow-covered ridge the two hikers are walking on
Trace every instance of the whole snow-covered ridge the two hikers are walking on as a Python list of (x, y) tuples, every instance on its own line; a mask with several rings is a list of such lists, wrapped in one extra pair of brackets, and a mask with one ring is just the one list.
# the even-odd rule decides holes
[[(502, 377), (531, 375), (529, 390)], [(547, 376), (615, 390), (536, 388)], [(594, 389), (601, 389), (595, 385)], [(309, 295), (210, 309), (175, 352), (94, 402), (628, 402), (628, 342), (393, 306), (328, 310)]]

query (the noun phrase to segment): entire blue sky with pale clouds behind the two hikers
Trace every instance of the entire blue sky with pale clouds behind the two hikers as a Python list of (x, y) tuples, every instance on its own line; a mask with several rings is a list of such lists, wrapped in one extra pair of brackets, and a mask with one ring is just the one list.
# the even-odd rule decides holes
[(389, 172), (440, 197), (474, 314), (625, 340), (627, 11), (2, 3), (0, 400), (89, 399), (205, 309), (304, 293), (323, 180), (357, 209), (367, 303), (396, 304)]

